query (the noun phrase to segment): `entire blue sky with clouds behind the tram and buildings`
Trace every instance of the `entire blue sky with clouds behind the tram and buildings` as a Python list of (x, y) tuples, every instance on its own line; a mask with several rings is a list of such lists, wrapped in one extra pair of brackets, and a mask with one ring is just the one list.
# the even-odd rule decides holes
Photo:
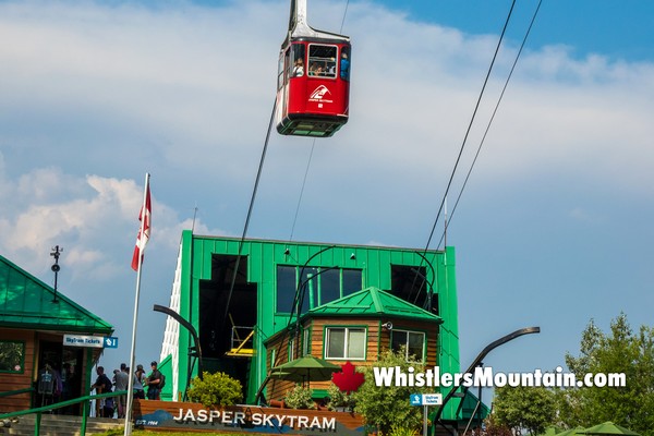
[[(458, 193), (536, 5), (518, 3), (455, 178)], [(351, 1), (350, 122), (274, 134), (249, 235), (424, 247), (509, 1)], [(310, 1), (338, 32), (346, 1)], [(130, 261), (153, 174), (137, 358), (159, 358), (182, 229), (240, 237), (268, 117), (286, 1), (0, 2), (0, 253), (117, 327), (129, 358)], [(654, 307), (654, 5), (544, 1), (461, 203), (461, 361), (554, 368), (591, 318)], [(450, 207), (453, 199), (450, 197)], [(438, 232), (441, 231), (440, 223)], [(437, 235), (439, 237), (439, 233)], [(436, 241), (438, 238), (436, 238)], [(129, 307), (129, 310), (128, 310)]]

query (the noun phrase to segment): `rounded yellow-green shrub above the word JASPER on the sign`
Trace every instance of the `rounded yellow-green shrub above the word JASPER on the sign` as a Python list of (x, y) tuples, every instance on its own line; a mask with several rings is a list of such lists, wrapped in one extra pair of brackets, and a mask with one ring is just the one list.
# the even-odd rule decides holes
[(203, 379), (193, 378), (187, 390), (189, 400), (199, 402), (205, 408), (211, 405), (234, 405), (243, 399), (241, 383), (225, 373), (203, 373)]

